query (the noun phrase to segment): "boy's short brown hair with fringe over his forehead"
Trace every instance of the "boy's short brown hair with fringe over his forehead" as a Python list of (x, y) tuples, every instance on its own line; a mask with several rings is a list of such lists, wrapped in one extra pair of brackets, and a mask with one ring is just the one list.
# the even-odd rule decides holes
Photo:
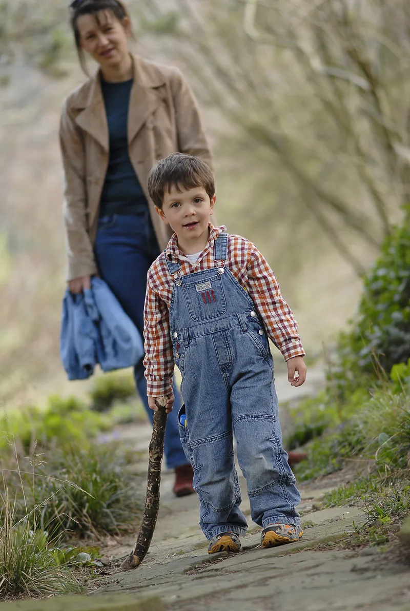
[(178, 192), (182, 189), (202, 187), (210, 199), (215, 194), (215, 181), (210, 167), (192, 155), (173, 153), (160, 159), (148, 174), (148, 192), (157, 208), (162, 210), (164, 195), (174, 186)]

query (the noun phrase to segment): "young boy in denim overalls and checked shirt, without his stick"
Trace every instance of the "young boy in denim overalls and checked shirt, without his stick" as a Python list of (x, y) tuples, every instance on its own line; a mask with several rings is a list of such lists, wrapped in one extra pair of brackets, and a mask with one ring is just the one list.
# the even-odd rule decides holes
[(194, 467), (200, 527), (208, 553), (241, 551), (247, 522), (233, 452), (246, 478), (252, 520), (262, 546), (302, 536), (295, 477), (282, 448), (268, 335), (287, 360), (288, 379), (306, 379), (293, 313), (257, 248), (210, 224), (214, 179), (203, 161), (175, 153), (148, 176), (156, 211), (174, 230), (148, 271), (144, 336), (148, 403), (167, 397), (172, 410), (174, 363), (185, 401), (178, 420)]

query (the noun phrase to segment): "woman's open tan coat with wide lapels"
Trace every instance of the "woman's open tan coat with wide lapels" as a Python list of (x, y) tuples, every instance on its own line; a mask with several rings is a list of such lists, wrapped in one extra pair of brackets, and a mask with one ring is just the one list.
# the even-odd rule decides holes
[[(211, 165), (196, 100), (177, 68), (133, 57), (134, 82), (128, 115), (128, 147), (147, 196), (160, 249), (170, 237), (147, 192), (148, 172), (158, 159), (182, 152)], [(67, 98), (60, 122), (64, 164), (64, 220), (68, 274), (72, 280), (97, 273), (93, 242), (109, 161), (109, 136), (100, 74)]]

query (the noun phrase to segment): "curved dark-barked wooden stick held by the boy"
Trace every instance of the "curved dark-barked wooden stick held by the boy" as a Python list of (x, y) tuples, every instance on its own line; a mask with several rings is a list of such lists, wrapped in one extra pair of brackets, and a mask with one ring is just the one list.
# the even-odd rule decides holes
[(167, 397), (155, 401), (158, 411), (154, 412), (154, 426), (149, 445), (150, 461), (148, 463), (147, 495), (145, 496), (144, 516), (137, 542), (132, 553), (121, 565), (123, 571), (131, 571), (141, 565), (147, 555), (155, 530), (159, 510), (159, 484), (161, 483), (161, 464), (164, 455), (164, 436), (167, 423), (165, 406)]

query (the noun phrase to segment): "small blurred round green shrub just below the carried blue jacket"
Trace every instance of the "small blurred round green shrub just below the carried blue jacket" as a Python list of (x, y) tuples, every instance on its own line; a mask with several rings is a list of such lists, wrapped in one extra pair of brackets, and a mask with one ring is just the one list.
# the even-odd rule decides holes
[(99, 412), (108, 410), (114, 401), (127, 401), (135, 396), (135, 382), (129, 371), (113, 371), (98, 376), (90, 392), (92, 408)]

